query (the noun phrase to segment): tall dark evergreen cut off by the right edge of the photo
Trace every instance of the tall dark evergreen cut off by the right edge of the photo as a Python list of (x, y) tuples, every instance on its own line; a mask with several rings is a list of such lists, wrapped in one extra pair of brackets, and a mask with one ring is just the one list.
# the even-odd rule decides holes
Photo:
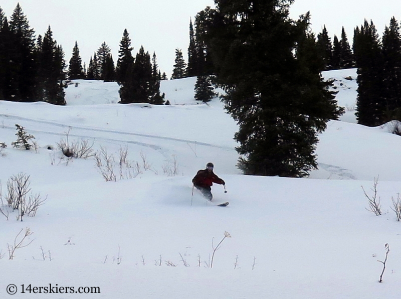
[(401, 120), (401, 36), (394, 17), (382, 38), (384, 121)]

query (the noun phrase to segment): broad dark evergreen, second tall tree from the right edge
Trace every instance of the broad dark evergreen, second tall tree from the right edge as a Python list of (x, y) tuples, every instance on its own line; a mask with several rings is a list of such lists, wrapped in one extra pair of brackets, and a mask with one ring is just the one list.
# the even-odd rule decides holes
[(360, 30), (354, 30), (353, 51), (357, 67), (358, 95), (356, 119), (368, 126), (382, 124), (383, 59), (380, 40), (373, 22), (365, 20)]

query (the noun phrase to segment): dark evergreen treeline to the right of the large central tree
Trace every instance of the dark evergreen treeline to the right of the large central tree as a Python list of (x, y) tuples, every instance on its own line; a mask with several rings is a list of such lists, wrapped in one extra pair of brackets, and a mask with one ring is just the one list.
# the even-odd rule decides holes
[[(313, 34), (309, 37), (315, 40)], [(354, 29), (352, 48), (344, 28), (341, 39), (334, 36), (331, 43), (324, 27), (315, 42), (321, 70), (357, 69), (358, 123), (377, 126), (401, 120), (401, 34), (394, 17), (381, 38), (373, 22), (365, 20)]]

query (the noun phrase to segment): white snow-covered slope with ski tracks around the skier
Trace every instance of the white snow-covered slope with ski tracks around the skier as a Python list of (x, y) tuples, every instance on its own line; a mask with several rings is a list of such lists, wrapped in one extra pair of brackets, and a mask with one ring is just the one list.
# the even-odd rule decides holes
[[(162, 82), (170, 106), (116, 104), (116, 83), (85, 80), (66, 89), (65, 107), (0, 102), (3, 201), (19, 173), (47, 196), (23, 222), (17, 212), (0, 214), (0, 297), (15, 284), (13, 298), (76, 298), (81, 286), (100, 290), (85, 298), (399, 298), (401, 224), (391, 197), (401, 192), (401, 138), (356, 124), (354, 69), (324, 77), (335, 79), (346, 113), (319, 136), (319, 170), (308, 179), (241, 175), (237, 125), (217, 99), (194, 101), (194, 78)], [(35, 136), (37, 151), (11, 146), (16, 123)], [(103, 179), (93, 158), (68, 162), (57, 147), (67, 133), (69, 142), (88, 140), (113, 155), (116, 182)], [(133, 166), (121, 173), (120, 148)], [(226, 181), (227, 194), (213, 187), (226, 208), (191, 196), (191, 179), (208, 162)], [(361, 188), (371, 195), (377, 176), (381, 216), (366, 210)], [(8, 245), (27, 227), (24, 244), (33, 242), (9, 260)], [(212, 242), (225, 232), (231, 238), (210, 267)], [(49, 284), (58, 293), (34, 294)]]

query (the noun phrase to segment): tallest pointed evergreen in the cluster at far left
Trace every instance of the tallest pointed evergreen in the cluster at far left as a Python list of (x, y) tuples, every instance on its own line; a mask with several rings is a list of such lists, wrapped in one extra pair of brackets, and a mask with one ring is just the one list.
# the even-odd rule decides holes
[(12, 35), (10, 99), (23, 102), (34, 101), (36, 92), (35, 32), (30, 28), (20, 4), (17, 4), (14, 9), (9, 25)]

